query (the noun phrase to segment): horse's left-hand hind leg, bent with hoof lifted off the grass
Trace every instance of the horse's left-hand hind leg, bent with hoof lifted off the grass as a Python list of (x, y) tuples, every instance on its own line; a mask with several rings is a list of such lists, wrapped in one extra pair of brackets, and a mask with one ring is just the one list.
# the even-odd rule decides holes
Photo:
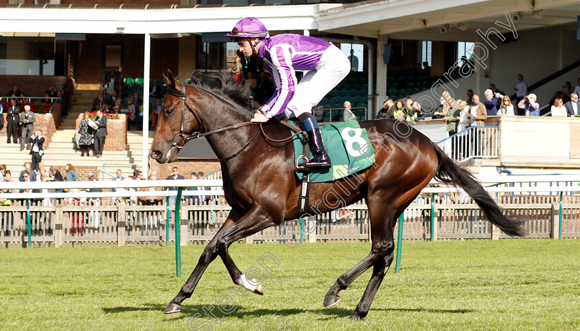
[[(390, 216), (393, 214), (393, 212), (392, 210), (387, 210), (387, 208), (384, 205), (381, 205), (378, 208), (380, 209), (374, 210), (374, 208), (371, 208), (371, 205), (369, 204), (369, 212), (371, 213), (370, 215), (371, 219), (374, 219), (373, 218), (374, 214), (378, 214), (381, 216), (380, 219), (382, 220), (380, 222), (380, 226), (378, 227), (376, 225), (373, 225), (373, 222), (371, 222), (371, 236), (373, 240), (371, 252), (369, 252), (369, 254), (367, 255), (367, 257), (365, 257), (365, 259), (357, 263), (353, 268), (351, 268), (349, 271), (345, 272), (345, 274), (342, 274), (342, 276), (336, 279), (334, 285), (332, 285), (330, 290), (328, 290), (327, 294), (325, 295), (325, 301), (323, 303), (325, 307), (331, 307), (332, 305), (336, 305), (336, 303), (340, 301), (338, 292), (340, 292), (341, 290), (345, 290), (357, 277), (363, 274), (363, 272), (369, 270), (369, 268), (371, 268), (372, 265), (376, 265), (378, 260), (383, 260), (388, 255), (387, 252), (389, 251), (389, 247), (385, 246), (389, 245), (388, 244), (382, 245), (380, 244), (380, 242), (383, 241), (383, 233), (385, 232), (384, 229), (386, 225), (385, 223), (387, 223), (386, 220), (393, 219), (393, 217)], [(386, 228), (388, 227), (389, 225), (386, 226)], [(390, 233), (392, 238), (393, 237), (392, 230), (390, 231)], [(376, 238), (376, 235), (378, 234), (380, 234), (380, 237)], [(394, 246), (394, 243), (391, 243), (391, 245)], [(392, 252), (393, 249), (390, 248), (390, 250)]]

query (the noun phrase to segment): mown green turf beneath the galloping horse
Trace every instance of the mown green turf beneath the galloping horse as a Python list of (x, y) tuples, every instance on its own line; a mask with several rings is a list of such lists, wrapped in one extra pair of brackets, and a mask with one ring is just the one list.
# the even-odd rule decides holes
[[(366, 272), (332, 308), (322, 299), (369, 243), (231, 247), (242, 272), (271, 252), (280, 260), (264, 296), (238, 297), (214, 261), (181, 313), (163, 310), (193, 270), (202, 246), (182, 248), (42, 248), (1, 250), (0, 330), (580, 330), (580, 241), (519, 239), (403, 244), (400, 274), (385, 276), (369, 315), (350, 321), (370, 277)], [(237, 289), (237, 287), (236, 287)], [(222, 314), (218, 300), (237, 307)], [(191, 320), (214, 306), (221, 323)], [(210, 330), (202, 328), (200, 330)]]

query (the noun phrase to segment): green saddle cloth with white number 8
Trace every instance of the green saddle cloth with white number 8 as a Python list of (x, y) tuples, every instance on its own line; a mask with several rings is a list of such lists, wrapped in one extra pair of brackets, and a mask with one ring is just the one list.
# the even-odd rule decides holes
[[(296, 123), (289, 121), (296, 126)], [(360, 128), (357, 121), (320, 126), (322, 141), (330, 157), (332, 167), (310, 171), (310, 181), (320, 183), (323, 181), (335, 181), (347, 177), (355, 172), (369, 168), (375, 162), (373, 146), (369, 141), (367, 130)], [(294, 164), (302, 155), (305, 143), (299, 134), (292, 141), (294, 145)], [(305, 162), (304, 159), (300, 163)], [(302, 180), (303, 173), (296, 171), (298, 179)]]

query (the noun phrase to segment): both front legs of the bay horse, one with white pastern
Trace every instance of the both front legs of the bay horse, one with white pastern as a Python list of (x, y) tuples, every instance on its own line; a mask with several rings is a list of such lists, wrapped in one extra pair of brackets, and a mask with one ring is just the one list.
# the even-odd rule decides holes
[(202, 274), (208, 267), (209, 263), (211, 263), (218, 254), (222, 257), (231, 279), (235, 284), (241, 285), (252, 292), (260, 293), (262, 291), (260, 284), (255, 284), (255, 281), (248, 281), (245, 279), (244, 274), (242, 274), (235, 263), (233, 263), (228, 248), (231, 243), (274, 225), (272, 220), (273, 218), (264, 212), (260, 205), (254, 205), (249, 212), (243, 215), (243, 217), (240, 217), (238, 212), (232, 210), (228, 215), (228, 219), (224, 225), (222, 225), (222, 228), (220, 228), (218, 233), (215, 234), (213, 239), (211, 239), (204, 249), (200, 261), (195, 265), (191, 276), (187, 279), (179, 294), (177, 294), (177, 296), (167, 305), (165, 313), (170, 314), (181, 310), (182, 301), (191, 297), (191, 294), (193, 294), (193, 290), (195, 290), (195, 286), (200, 281)]

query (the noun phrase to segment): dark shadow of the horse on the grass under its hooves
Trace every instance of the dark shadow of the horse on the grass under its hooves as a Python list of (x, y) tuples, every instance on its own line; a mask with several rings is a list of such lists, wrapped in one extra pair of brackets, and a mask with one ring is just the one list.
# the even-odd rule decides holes
[[(182, 307), (182, 311), (171, 314), (172, 319), (186, 319), (193, 314), (200, 313), (202, 316), (204, 315), (204, 307), (209, 307), (211, 304), (208, 305), (184, 305)], [(105, 314), (118, 314), (122, 312), (135, 312), (135, 311), (152, 311), (152, 312), (159, 312), (159, 314), (164, 314), (163, 311), (165, 310), (165, 304), (157, 304), (157, 303), (143, 303), (142, 305), (136, 305), (135, 307), (113, 307), (113, 308), (102, 308)], [(429, 312), (434, 314), (466, 314), (468, 312), (474, 312), (475, 310), (470, 309), (430, 309), (430, 308), (371, 308), (371, 312), (379, 311), (379, 312)], [(346, 309), (346, 308), (320, 308), (320, 309), (297, 309), (297, 308), (288, 308), (288, 309), (256, 309), (251, 310), (249, 308), (245, 308), (242, 305), (238, 305), (238, 308), (235, 309), (234, 312), (231, 314), (220, 314), (219, 312), (216, 313), (218, 316), (226, 316), (226, 317), (237, 317), (243, 319), (244, 317), (261, 317), (264, 315), (274, 315), (274, 316), (292, 316), (298, 315), (303, 313), (311, 313), (311, 314), (323, 314), (327, 315), (327, 318), (322, 318), (320, 320), (327, 320), (327, 319), (336, 319), (341, 317), (350, 317), (350, 315), (354, 312), (354, 310)]]

